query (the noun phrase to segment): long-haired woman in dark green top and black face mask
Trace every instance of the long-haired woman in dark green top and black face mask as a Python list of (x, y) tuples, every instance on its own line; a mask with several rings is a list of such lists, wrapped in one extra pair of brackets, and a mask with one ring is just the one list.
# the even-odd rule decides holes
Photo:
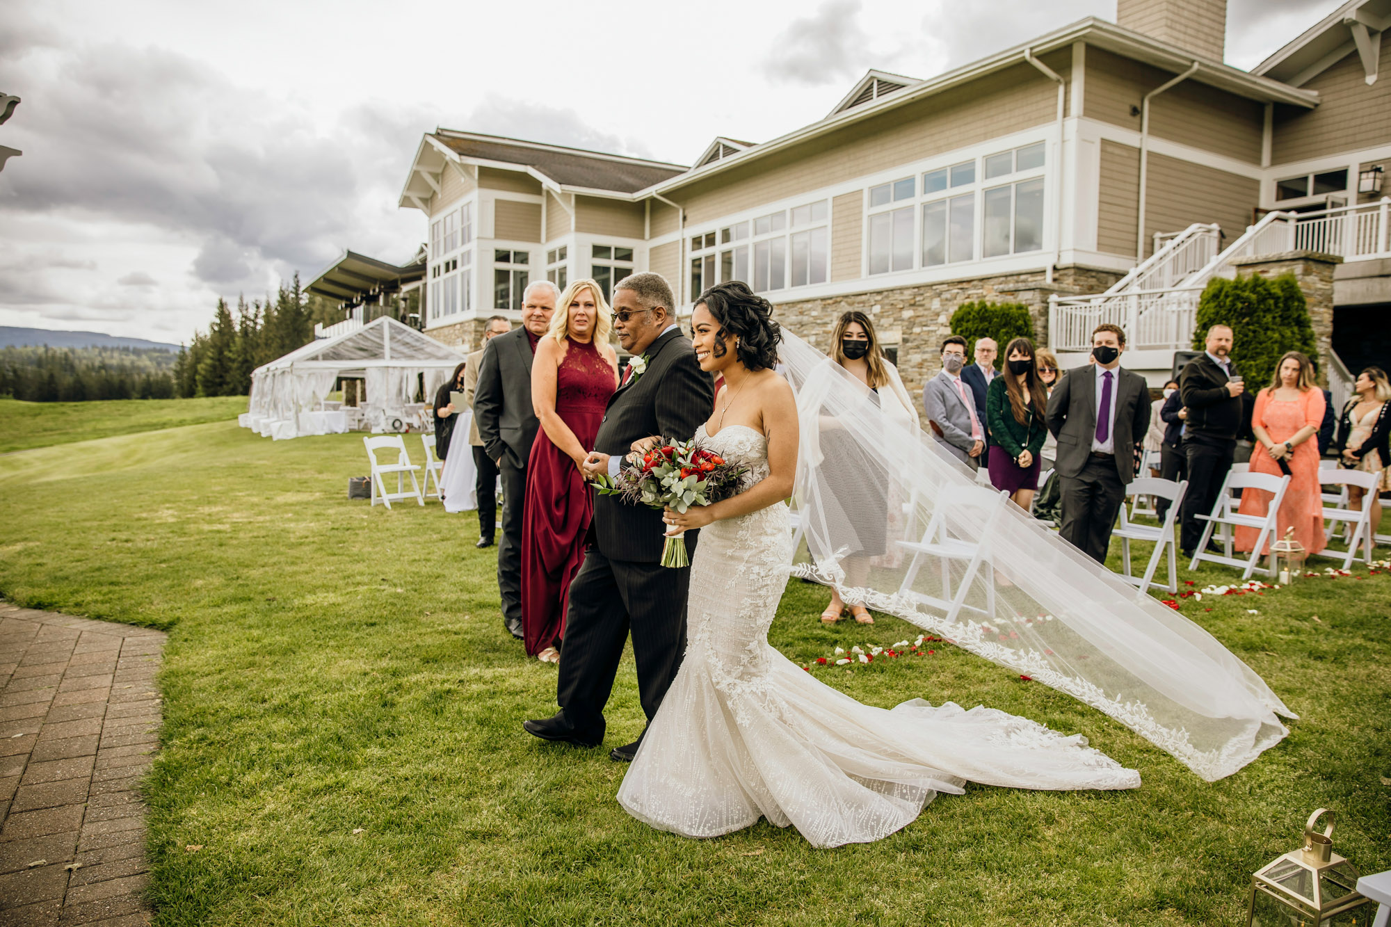
[(1034, 363), (1034, 342), (1015, 338), (1004, 349), (1004, 369), (985, 394), (990, 426), (990, 484), (1007, 491), (1025, 512), (1039, 487), (1039, 451), (1047, 437), (1047, 388)]

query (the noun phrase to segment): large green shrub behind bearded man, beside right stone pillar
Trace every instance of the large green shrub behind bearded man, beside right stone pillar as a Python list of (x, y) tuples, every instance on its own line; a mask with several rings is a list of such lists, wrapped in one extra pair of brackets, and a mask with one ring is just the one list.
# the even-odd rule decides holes
[(1198, 302), (1195, 351), (1203, 349), (1207, 328), (1216, 324), (1231, 328), (1231, 359), (1252, 390), (1270, 383), (1287, 351), (1317, 358), (1309, 306), (1292, 273), (1274, 280), (1259, 274), (1214, 278)]

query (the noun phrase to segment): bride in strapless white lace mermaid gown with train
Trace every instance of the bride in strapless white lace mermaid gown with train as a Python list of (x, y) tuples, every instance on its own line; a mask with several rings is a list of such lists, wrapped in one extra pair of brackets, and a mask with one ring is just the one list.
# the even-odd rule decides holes
[(826, 686), (768, 643), (787, 583), (787, 507), (797, 459), (791, 388), (771, 369), (768, 303), (721, 284), (696, 306), (697, 358), (726, 388), (696, 437), (751, 470), (739, 497), (684, 515), (701, 528), (680, 672), (643, 738), (618, 800), (684, 837), (766, 817), (814, 846), (876, 841), (965, 781), (1029, 789), (1127, 789), (1139, 774), (1003, 711), (921, 699), (893, 710)]

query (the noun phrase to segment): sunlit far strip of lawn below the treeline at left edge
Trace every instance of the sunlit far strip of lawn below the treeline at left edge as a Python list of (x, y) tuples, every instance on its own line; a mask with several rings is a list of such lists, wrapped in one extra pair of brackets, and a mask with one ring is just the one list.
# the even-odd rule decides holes
[(245, 395), (104, 402), (19, 402), (0, 398), (0, 454), (114, 434), (224, 422), (245, 411)]

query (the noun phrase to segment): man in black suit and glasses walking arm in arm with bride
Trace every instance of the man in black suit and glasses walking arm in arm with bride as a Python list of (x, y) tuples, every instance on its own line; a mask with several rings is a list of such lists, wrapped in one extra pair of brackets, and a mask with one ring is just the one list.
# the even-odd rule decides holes
[[(613, 330), (633, 362), (584, 462), (588, 476), (616, 473), (633, 441), (654, 434), (686, 441), (709, 418), (714, 386), (690, 340), (682, 337), (675, 302), (661, 274), (633, 274), (613, 288)], [(595, 496), (590, 530), (584, 565), (570, 583), (556, 683), (561, 710), (522, 725), (545, 740), (584, 747), (604, 742), (604, 706), (630, 631), (643, 711), (648, 721), (657, 714), (686, 650), (690, 589), (689, 566), (661, 565), (665, 525), (659, 511)], [(686, 534), (691, 555), (694, 534)], [(609, 756), (632, 760), (641, 739)]]

